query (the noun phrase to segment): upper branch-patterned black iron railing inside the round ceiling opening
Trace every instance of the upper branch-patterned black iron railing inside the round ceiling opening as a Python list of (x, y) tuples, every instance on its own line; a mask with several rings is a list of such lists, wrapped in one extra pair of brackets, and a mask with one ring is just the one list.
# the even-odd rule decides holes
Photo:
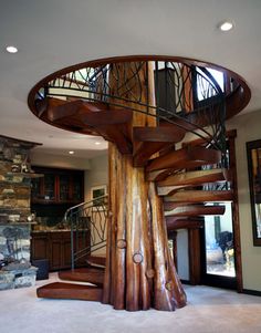
[[(148, 97), (149, 67), (154, 71), (156, 103), (150, 103)], [(156, 117), (158, 122), (176, 124), (222, 150), (226, 119), (222, 85), (209, 69), (189, 62), (105, 62), (48, 81), (38, 91), (36, 100), (39, 104), (39, 100), (46, 97), (81, 98), (129, 108)]]

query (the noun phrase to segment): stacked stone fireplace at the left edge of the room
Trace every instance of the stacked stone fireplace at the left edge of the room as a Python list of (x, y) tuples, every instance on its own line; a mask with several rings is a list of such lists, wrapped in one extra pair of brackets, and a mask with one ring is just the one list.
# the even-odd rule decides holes
[(36, 144), (0, 136), (0, 290), (33, 285), (30, 263), (30, 149)]

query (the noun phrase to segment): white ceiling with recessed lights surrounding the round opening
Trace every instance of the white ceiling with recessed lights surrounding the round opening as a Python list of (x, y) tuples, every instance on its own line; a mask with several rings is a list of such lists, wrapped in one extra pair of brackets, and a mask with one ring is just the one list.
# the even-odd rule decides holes
[[(228, 33), (217, 29), (230, 19)], [(94, 59), (158, 54), (194, 58), (240, 74), (261, 111), (260, 0), (0, 0), (0, 134), (42, 143), (52, 154), (93, 157), (106, 148), (40, 122), (27, 104), (54, 71)], [(15, 45), (17, 54), (6, 52)]]

